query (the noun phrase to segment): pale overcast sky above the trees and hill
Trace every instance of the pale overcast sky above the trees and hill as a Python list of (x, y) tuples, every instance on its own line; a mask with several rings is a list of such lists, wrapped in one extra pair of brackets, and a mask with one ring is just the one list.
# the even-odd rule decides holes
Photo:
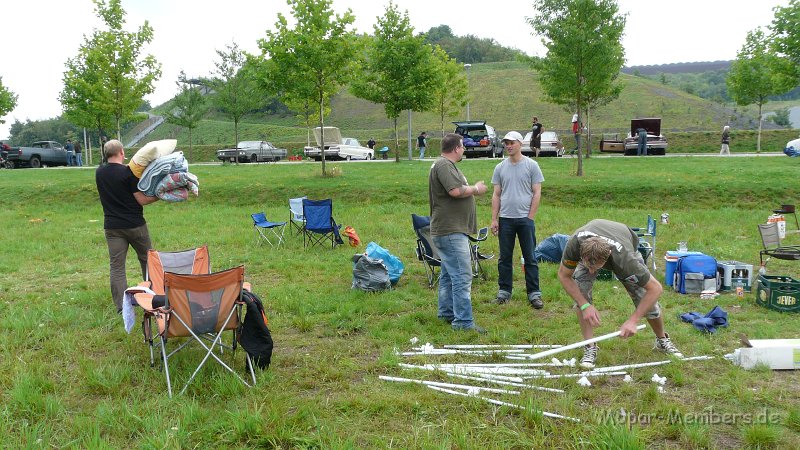
[[(623, 44), (626, 65), (728, 60), (736, 57), (747, 31), (767, 26), (772, 8), (788, 0), (619, 0), (628, 14)], [(333, 0), (334, 9), (350, 8), (356, 29), (372, 33), (375, 18), (388, 1)], [(495, 39), (530, 55), (544, 56), (539, 38), (525, 18), (535, 14), (532, 0), (395, 0), (407, 10), (417, 32), (447, 24), (456, 35)], [(257, 52), (256, 41), (274, 26), (284, 0), (123, 0), (127, 30), (148, 20), (155, 38), (147, 49), (162, 64), (161, 80), (147, 97), (153, 106), (177, 92), (175, 80), (208, 75), (216, 49), (233, 41)], [(211, 5), (214, 5), (213, 7)], [(482, 6), (478, 6), (482, 5)], [(77, 54), (83, 35), (100, 26), (91, 0), (2, 0), (0, 77), (19, 98), (3, 117), (0, 138), (16, 119), (40, 120), (61, 114), (64, 62)]]

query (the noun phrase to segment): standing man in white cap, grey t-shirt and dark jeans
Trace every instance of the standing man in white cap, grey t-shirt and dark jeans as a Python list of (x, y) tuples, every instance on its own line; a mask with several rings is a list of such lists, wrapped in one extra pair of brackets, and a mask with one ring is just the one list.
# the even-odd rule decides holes
[(528, 302), (535, 309), (544, 306), (539, 288), (539, 266), (534, 218), (539, 210), (544, 175), (536, 161), (522, 154), (522, 135), (510, 131), (503, 138), (508, 158), (492, 174), (492, 233), (499, 238), (500, 258), (497, 261), (497, 303), (511, 299), (513, 289), (514, 241), (519, 240), (525, 260), (525, 290)]

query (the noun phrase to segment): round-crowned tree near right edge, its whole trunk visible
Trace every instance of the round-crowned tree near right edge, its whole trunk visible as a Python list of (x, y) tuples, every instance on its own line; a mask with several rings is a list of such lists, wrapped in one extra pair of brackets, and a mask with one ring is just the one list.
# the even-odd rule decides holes
[(762, 109), (767, 97), (780, 94), (791, 89), (794, 84), (789, 59), (776, 56), (769, 49), (769, 42), (764, 32), (758, 28), (747, 33), (741, 50), (736, 53), (736, 60), (731, 63), (727, 84), (736, 104), (758, 106), (758, 138), (756, 152), (761, 152)]

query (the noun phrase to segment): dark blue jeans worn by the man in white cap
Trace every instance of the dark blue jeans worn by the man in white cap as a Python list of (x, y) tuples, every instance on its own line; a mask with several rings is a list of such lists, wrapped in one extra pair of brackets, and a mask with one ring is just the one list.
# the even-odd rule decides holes
[(532, 219), (523, 217), (509, 219), (500, 217), (497, 237), (500, 241), (500, 258), (497, 260), (497, 284), (499, 290), (508, 293), (514, 287), (514, 240), (519, 239), (519, 248), (525, 258), (525, 291), (528, 295), (539, 290), (539, 265), (533, 250), (536, 248), (536, 224)]

